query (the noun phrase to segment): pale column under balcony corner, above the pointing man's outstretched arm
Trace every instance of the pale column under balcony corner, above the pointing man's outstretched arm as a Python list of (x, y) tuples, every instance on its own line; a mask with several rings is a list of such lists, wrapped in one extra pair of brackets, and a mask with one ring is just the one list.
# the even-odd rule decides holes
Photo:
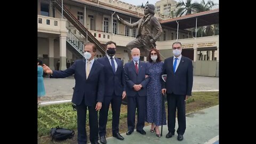
[(67, 69), (66, 67), (66, 39), (67, 35), (60, 35), (60, 70)]

